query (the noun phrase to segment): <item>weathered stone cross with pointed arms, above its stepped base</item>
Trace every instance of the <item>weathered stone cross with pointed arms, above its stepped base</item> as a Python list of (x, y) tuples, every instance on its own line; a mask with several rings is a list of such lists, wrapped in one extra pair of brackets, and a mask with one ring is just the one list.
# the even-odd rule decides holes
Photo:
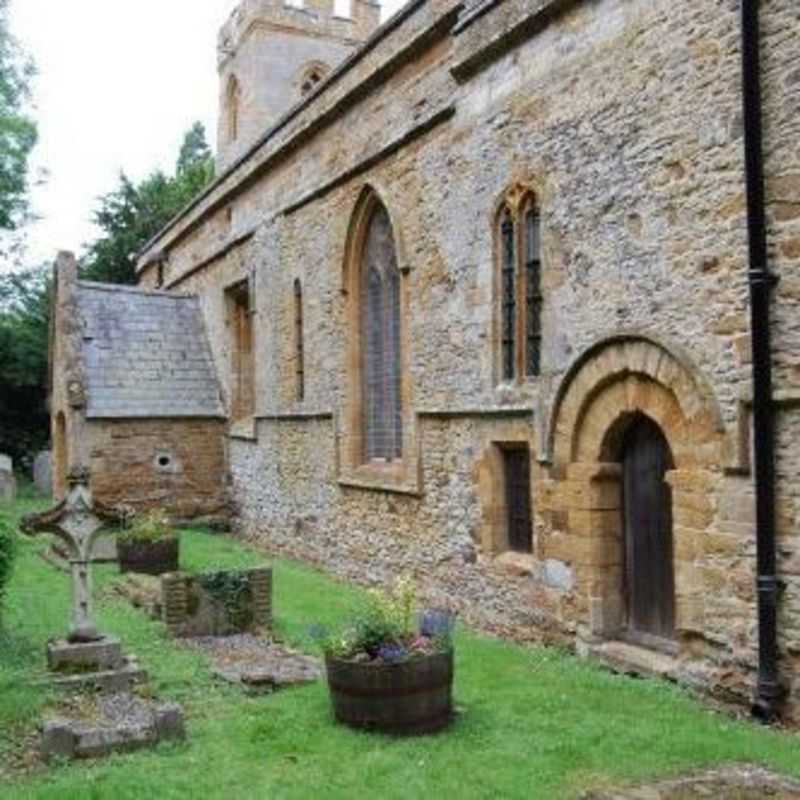
[(66, 498), (50, 511), (25, 517), (22, 530), (30, 536), (51, 533), (67, 545), (72, 571), (72, 625), (67, 638), (70, 642), (94, 642), (103, 636), (92, 609), (92, 551), (99, 532), (111, 523), (123, 522), (126, 511), (93, 502), (85, 468), (72, 470), (67, 485)]

